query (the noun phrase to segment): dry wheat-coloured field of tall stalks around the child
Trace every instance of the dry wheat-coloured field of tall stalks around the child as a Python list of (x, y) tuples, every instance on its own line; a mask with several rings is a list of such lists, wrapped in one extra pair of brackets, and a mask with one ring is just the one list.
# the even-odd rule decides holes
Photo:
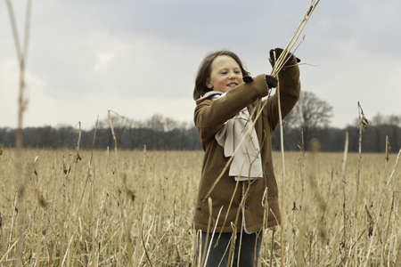
[[(201, 151), (23, 150), (21, 196), (17, 155), (0, 155), (0, 265), (19, 244), (26, 266), (198, 266)], [(401, 265), (397, 154), (343, 158), (287, 152), (283, 176), (274, 153), (283, 223), (261, 266)]]

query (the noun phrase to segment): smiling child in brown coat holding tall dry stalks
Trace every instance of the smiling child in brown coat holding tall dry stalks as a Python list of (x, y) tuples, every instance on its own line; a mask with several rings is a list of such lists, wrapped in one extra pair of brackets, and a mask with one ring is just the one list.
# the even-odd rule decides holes
[[(272, 65), (274, 53), (278, 59), (282, 49), (270, 51)], [(278, 74), (282, 117), (290, 113), (300, 92), (299, 60), (291, 53), (287, 57)], [(227, 266), (228, 261), (233, 266), (237, 261), (239, 266), (257, 266), (263, 229), (280, 223), (271, 150), (279, 124), (277, 94), (263, 100), (260, 115), (257, 109), (258, 101), (276, 86), (272, 76), (250, 77), (238, 56), (226, 50), (210, 53), (198, 69), (194, 124), (205, 154), (195, 229), (201, 231), (201, 257), (210, 246), (206, 266)], [(230, 244), (235, 247), (233, 255), (226, 249)]]

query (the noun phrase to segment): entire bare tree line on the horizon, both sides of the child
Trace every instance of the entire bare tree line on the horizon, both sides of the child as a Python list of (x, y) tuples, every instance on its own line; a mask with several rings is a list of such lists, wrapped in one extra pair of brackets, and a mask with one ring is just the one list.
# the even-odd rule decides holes
[[(331, 117), (329, 103), (320, 100), (314, 93), (301, 93), (299, 103), (282, 121), (284, 150), (308, 150), (309, 143), (315, 139), (320, 142), (322, 151), (342, 151), (347, 132), (350, 152), (359, 150), (360, 135), (364, 152), (384, 152), (386, 137), (394, 150), (401, 148), (401, 116), (377, 114), (372, 119), (364, 120), (364, 129), (360, 127), (358, 118), (354, 125), (342, 129), (331, 127)], [(112, 117), (111, 125), (119, 150), (143, 150), (144, 145), (147, 150), (201, 150), (200, 138), (192, 123), (178, 122), (160, 114), (144, 121)], [(73, 149), (78, 144), (81, 149), (87, 150), (114, 147), (108, 117), (91, 130), (60, 125), (26, 127), (22, 133), (25, 148)], [(15, 136), (15, 129), (0, 128), (0, 144), (4, 148), (15, 146)], [(280, 139), (280, 130), (277, 128), (272, 139), (273, 150), (280, 150)]]

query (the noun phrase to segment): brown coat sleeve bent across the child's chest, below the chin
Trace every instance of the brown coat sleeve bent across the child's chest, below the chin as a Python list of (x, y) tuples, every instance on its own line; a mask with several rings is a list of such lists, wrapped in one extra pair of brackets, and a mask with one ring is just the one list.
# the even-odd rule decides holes
[(193, 121), (201, 142), (214, 138), (227, 120), (267, 93), (265, 75), (259, 75), (252, 82), (238, 85), (216, 101), (197, 101)]

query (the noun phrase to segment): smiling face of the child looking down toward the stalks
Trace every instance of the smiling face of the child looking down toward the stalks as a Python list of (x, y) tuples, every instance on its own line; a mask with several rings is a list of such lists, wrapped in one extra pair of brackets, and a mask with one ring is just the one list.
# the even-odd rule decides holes
[(210, 77), (206, 82), (209, 89), (225, 93), (242, 82), (240, 65), (232, 57), (219, 55), (212, 61)]

